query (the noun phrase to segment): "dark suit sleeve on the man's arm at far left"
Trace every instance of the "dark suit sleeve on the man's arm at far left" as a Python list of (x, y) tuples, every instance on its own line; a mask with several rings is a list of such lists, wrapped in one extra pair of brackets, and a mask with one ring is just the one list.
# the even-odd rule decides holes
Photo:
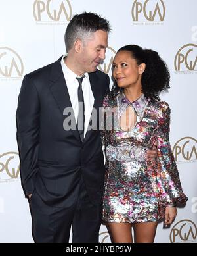
[(35, 85), (24, 77), (16, 111), (17, 141), (20, 155), (20, 176), (26, 195), (33, 192), (38, 171), (39, 97)]

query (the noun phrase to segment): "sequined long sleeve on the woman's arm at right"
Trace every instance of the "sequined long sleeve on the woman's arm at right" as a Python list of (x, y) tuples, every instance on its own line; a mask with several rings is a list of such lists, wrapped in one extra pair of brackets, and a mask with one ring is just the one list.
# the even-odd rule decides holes
[(169, 143), (170, 108), (165, 102), (161, 103), (158, 111), (158, 161), (156, 179), (162, 201), (166, 204), (183, 204), (187, 201), (183, 193), (179, 172)]

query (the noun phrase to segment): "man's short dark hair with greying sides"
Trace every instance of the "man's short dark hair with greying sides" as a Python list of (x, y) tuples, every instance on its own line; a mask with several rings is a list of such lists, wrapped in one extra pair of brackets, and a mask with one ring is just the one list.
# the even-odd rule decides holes
[(72, 48), (76, 39), (84, 41), (97, 30), (110, 32), (110, 22), (96, 13), (76, 14), (66, 28), (64, 36), (66, 51)]

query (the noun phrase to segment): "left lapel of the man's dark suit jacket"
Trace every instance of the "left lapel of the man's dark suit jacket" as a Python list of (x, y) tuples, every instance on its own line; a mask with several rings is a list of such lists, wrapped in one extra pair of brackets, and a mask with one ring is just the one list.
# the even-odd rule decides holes
[[(80, 140), (80, 136), (79, 136), (79, 132), (77, 130), (77, 124), (76, 124), (76, 120), (74, 118), (74, 111), (72, 109), (72, 104), (70, 102), (70, 97), (69, 97), (69, 93), (68, 93), (68, 88), (66, 86), (66, 81), (64, 78), (64, 74), (62, 72), (62, 66), (60, 64), (62, 57), (60, 57), (60, 59), (58, 59), (58, 61), (56, 61), (51, 69), (51, 76), (50, 76), (50, 80), (51, 80), (51, 93), (53, 94), (53, 97), (55, 98), (55, 101), (60, 109), (60, 112), (62, 114), (62, 120), (66, 117), (68, 117), (68, 115), (63, 115), (64, 113), (64, 109), (66, 107), (69, 107), (71, 113), (70, 115), (73, 116), (73, 124), (74, 124), (74, 128), (72, 129), (72, 132), (74, 133), (74, 136), (76, 136), (77, 140)], [(63, 123), (62, 123), (62, 128), (63, 128)]]

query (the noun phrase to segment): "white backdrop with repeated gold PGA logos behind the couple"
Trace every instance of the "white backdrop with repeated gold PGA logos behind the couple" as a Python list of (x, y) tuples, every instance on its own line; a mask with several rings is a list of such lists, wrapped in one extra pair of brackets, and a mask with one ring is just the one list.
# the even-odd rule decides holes
[[(171, 147), (188, 202), (169, 228), (158, 225), (155, 242), (197, 242), (196, 10), (196, 0), (0, 0), (0, 242), (33, 242), (16, 143), (22, 79), (64, 55), (66, 26), (83, 11), (98, 13), (112, 25), (99, 66), (109, 76), (116, 51), (127, 44), (158, 51), (169, 66), (171, 89), (161, 99), (171, 107)], [(105, 226), (100, 242), (110, 242)]]

